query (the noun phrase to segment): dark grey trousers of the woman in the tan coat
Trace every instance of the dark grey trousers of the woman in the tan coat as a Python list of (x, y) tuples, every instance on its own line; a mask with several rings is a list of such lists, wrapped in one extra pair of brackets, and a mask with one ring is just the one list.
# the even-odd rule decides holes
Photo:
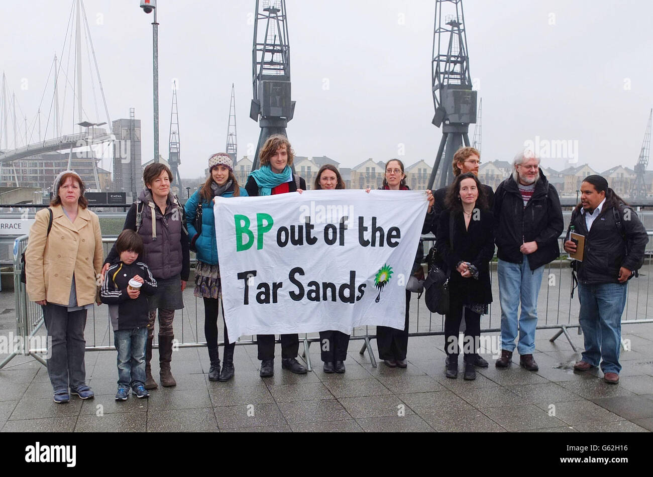
[(54, 392), (76, 389), (86, 384), (84, 352), (87, 310), (68, 311), (67, 307), (48, 303), (42, 306), (45, 327), (52, 337), (48, 350), (48, 376)]

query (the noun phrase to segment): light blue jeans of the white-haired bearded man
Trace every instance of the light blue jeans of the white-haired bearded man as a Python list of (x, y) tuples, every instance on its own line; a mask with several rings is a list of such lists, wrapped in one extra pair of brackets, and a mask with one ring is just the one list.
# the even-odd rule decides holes
[(542, 285), (544, 266), (530, 269), (528, 255), (521, 264), (499, 260), (499, 299), (501, 301), (501, 348), (513, 352), (517, 338), (517, 310), (519, 316), (519, 354), (535, 351), (535, 327), (537, 326), (537, 296)]

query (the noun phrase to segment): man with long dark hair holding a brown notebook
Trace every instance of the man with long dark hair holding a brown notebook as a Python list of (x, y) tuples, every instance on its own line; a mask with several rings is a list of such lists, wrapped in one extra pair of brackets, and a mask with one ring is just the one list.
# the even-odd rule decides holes
[(578, 273), (578, 298), (585, 350), (576, 371), (599, 365), (604, 379), (619, 382), (621, 315), (626, 305), (628, 280), (644, 263), (648, 236), (639, 217), (608, 187), (601, 176), (585, 177), (581, 203), (571, 213), (564, 249), (580, 251), (571, 240), (572, 230), (584, 236), (582, 261), (574, 262)]

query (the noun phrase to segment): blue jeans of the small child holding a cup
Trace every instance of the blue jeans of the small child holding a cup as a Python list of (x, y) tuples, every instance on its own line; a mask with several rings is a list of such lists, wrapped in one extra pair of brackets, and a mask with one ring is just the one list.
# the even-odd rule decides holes
[(138, 384), (145, 384), (148, 329), (116, 330), (114, 340), (118, 350), (118, 388), (136, 388)]

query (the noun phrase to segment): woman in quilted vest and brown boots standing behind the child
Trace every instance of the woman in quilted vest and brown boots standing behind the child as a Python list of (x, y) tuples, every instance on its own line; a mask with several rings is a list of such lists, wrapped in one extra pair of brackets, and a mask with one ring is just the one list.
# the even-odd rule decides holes
[[(157, 281), (157, 293), (148, 297), (150, 322), (146, 347), (146, 389), (158, 387), (151, 374), (154, 322), (159, 310), (159, 368), (161, 385), (176, 386), (170, 371), (174, 331), (174, 311), (183, 308), (182, 292), (190, 273), (188, 234), (183, 222), (183, 208), (170, 192), (172, 172), (165, 164), (154, 162), (143, 171), (145, 189), (132, 204), (123, 229), (136, 230), (143, 240), (142, 262)], [(139, 217), (140, 215), (140, 217)], [(103, 276), (110, 264), (118, 260), (116, 248), (106, 257)]]

